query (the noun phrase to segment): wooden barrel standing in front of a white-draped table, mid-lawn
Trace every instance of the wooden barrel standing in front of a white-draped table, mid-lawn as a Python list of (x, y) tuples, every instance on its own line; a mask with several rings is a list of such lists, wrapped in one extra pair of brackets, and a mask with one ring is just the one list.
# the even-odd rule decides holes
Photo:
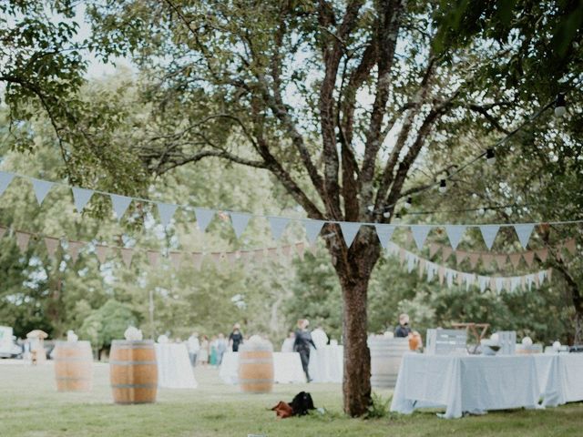
[(239, 347), (239, 385), (247, 393), (273, 389), (273, 347), (269, 342), (247, 342)]

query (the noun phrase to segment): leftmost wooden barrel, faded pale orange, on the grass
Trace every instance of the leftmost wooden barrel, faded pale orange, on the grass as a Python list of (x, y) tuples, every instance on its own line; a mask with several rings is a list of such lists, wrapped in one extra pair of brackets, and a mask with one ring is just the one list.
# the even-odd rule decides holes
[(90, 391), (93, 355), (89, 341), (56, 341), (55, 378), (57, 391)]

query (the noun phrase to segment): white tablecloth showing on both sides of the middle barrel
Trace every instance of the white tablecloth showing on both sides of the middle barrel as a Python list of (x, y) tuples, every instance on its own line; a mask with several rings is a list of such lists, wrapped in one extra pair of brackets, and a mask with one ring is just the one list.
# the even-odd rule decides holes
[[(225, 352), (219, 376), (223, 382), (236, 384), (239, 376), (239, 353)], [(302, 361), (297, 352), (273, 352), (273, 380), (281, 384), (305, 382)]]

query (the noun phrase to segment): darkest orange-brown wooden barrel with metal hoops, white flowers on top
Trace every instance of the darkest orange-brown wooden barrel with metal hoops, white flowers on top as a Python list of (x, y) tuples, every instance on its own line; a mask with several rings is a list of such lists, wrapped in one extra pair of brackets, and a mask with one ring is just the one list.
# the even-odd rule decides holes
[(109, 380), (116, 403), (156, 401), (158, 366), (152, 340), (113, 340)]

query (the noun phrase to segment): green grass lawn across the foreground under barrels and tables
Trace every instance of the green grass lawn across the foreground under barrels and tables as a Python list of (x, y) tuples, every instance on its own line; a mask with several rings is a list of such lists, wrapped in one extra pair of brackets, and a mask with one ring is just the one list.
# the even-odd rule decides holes
[[(583, 435), (583, 404), (544, 411), (490, 412), (444, 420), (435, 412), (391, 415), (377, 420), (349, 419), (342, 413), (342, 391), (335, 384), (276, 385), (268, 395), (245, 395), (223, 384), (218, 371), (195, 371), (197, 390), (159, 390), (158, 402), (115, 405), (108, 368), (95, 365), (94, 388), (58, 393), (53, 367), (0, 361), (1, 436), (575, 436)], [(323, 416), (276, 420), (268, 408), (311, 391)], [(386, 399), (391, 393), (380, 393)]]

